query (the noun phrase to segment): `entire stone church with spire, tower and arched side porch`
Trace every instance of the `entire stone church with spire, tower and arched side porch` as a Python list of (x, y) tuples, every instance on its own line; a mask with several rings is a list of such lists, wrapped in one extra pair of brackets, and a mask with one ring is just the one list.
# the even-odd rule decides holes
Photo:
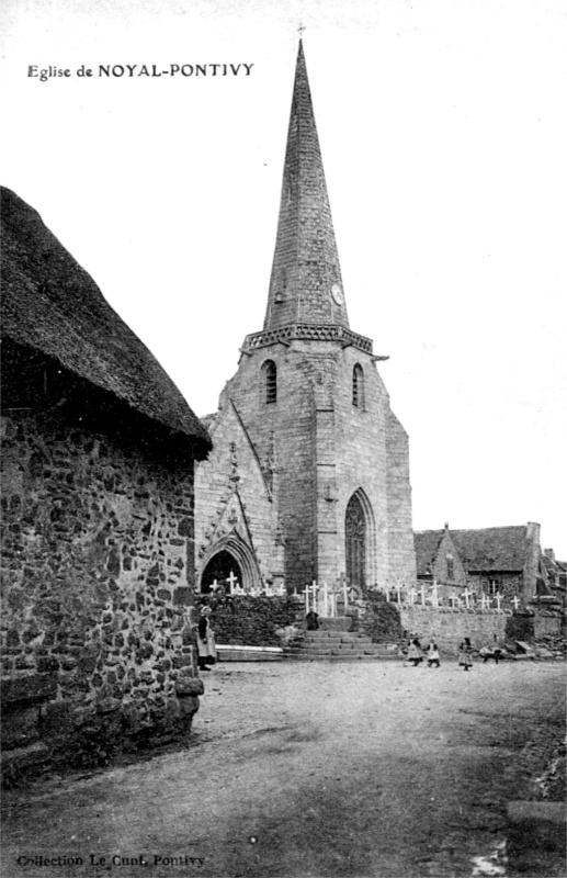
[(349, 325), (302, 43), (264, 324), (240, 351), (203, 419), (196, 589), (412, 584), (408, 436), (378, 372), (387, 358)]

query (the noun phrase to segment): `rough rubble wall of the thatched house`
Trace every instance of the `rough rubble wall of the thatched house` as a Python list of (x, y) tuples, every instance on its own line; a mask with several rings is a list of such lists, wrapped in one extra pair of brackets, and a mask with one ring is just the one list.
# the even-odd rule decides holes
[(202, 691), (192, 465), (53, 410), (2, 432), (4, 755), (94, 764), (186, 734)]

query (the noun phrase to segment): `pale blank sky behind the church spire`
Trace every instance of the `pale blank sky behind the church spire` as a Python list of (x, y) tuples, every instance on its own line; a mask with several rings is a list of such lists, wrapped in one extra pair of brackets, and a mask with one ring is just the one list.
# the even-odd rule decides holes
[[(0, 181), (200, 416), (262, 328), (302, 26), (350, 325), (389, 356), (413, 526), (537, 521), (567, 560), (566, 0), (0, 15)], [(70, 76), (34, 75), (49, 67)]]

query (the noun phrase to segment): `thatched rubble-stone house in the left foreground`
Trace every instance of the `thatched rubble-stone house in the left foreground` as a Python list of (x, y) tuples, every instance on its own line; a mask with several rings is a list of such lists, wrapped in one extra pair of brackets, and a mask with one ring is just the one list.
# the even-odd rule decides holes
[(195, 461), (211, 440), (9, 190), (2, 233), (2, 765), (186, 736)]

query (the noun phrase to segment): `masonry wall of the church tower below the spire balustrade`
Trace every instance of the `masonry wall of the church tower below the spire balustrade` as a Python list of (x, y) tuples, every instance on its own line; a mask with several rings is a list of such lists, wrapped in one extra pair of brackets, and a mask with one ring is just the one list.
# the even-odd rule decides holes
[[(277, 399), (268, 403), (262, 364), (277, 368)], [(352, 370), (364, 370), (364, 405), (352, 404)], [(372, 508), (366, 578), (385, 588), (415, 578), (407, 437), (390, 436), (392, 539), (386, 414), (389, 401), (372, 358), (334, 342), (294, 340), (243, 356), (227, 384), (263, 468), (275, 448), (274, 505), (285, 538), (285, 584), (334, 582), (345, 573), (344, 516), (362, 489)], [(399, 442), (397, 439), (399, 438)]]

